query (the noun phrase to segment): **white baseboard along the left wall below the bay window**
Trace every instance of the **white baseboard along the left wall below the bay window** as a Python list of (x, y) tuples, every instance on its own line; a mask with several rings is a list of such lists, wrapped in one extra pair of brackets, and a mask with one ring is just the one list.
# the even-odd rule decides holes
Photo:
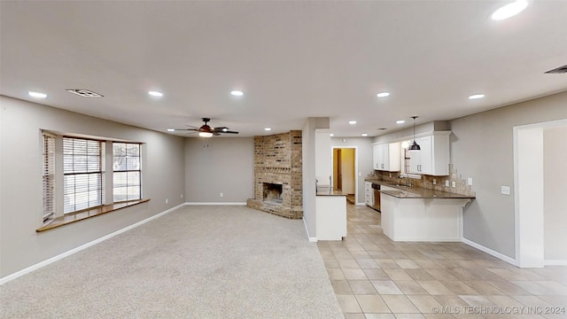
[(165, 215), (165, 214), (168, 214), (168, 213), (171, 213), (171, 212), (175, 211), (175, 209), (177, 209), (177, 208), (179, 208), (179, 207), (181, 207), (181, 206), (183, 206), (183, 204), (178, 205), (178, 206), (175, 206), (175, 207), (173, 207), (173, 208), (169, 208), (169, 209), (167, 209), (167, 211), (161, 212), (161, 213), (159, 213), (159, 214), (154, 214), (153, 216), (148, 217), (148, 218), (146, 218), (146, 219), (144, 219), (144, 220), (142, 220), (142, 221), (140, 221), (140, 222), (135, 222), (135, 223), (131, 224), (130, 226), (127, 226), (127, 227), (125, 227), (125, 228), (123, 228), (123, 229), (121, 229), (121, 230), (116, 230), (116, 231), (114, 231), (113, 233), (110, 233), (110, 234), (108, 234), (108, 235), (106, 235), (106, 236), (97, 238), (97, 239), (95, 239), (95, 240), (93, 240), (93, 241), (90, 241), (90, 242), (87, 243), (87, 244), (84, 244), (84, 245), (80, 245), (80, 246), (78, 246), (78, 247), (75, 247), (75, 248), (73, 248), (73, 249), (71, 249), (71, 250), (66, 251), (65, 253), (59, 253), (57, 256), (51, 257), (50, 259), (45, 260), (45, 261), (40, 261), (40, 262), (36, 263), (35, 265), (32, 265), (32, 266), (30, 266), (30, 267), (21, 269), (21, 270), (19, 270), (19, 271), (13, 273), (13, 274), (11, 274), (11, 275), (4, 276), (4, 277), (0, 278), (0, 285), (6, 284), (6, 283), (8, 283), (8, 282), (10, 282), (10, 281), (12, 281), (12, 280), (14, 280), (14, 279), (20, 277), (20, 276), (27, 275), (27, 274), (31, 273), (32, 271), (37, 270), (37, 269), (39, 269), (39, 268), (43, 268), (43, 267), (49, 265), (50, 263), (53, 263), (53, 262), (55, 262), (55, 261), (62, 260), (62, 259), (64, 259), (65, 257), (70, 256), (70, 255), (72, 255), (72, 254), (74, 254), (74, 253), (81, 252), (83, 249), (89, 248), (89, 247), (92, 246), (92, 245), (97, 245), (97, 244), (99, 244), (99, 243), (105, 241), (106, 239), (110, 239), (110, 238), (112, 238), (112, 237), (114, 237), (114, 236), (116, 236), (116, 235), (120, 235), (121, 233), (123, 233), (123, 232), (125, 232), (125, 231), (132, 230), (132, 229), (134, 229), (134, 228), (136, 228), (136, 227), (138, 227), (138, 226), (140, 226), (140, 225), (143, 225), (143, 224), (146, 223), (146, 222), (151, 222), (151, 221), (153, 221), (153, 220), (156, 219), (156, 218), (159, 218), (159, 217), (161, 217), (161, 216), (163, 216), (163, 215)]

